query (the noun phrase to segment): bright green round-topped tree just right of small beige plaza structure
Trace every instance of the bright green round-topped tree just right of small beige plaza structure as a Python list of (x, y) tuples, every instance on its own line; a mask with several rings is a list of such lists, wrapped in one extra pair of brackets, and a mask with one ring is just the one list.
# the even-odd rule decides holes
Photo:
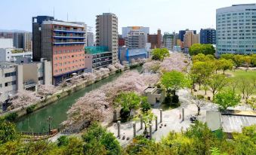
[(173, 91), (174, 95), (177, 90), (188, 87), (189, 85), (188, 79), (179, 71), (165, 72), (162, 75), (161, 83), (167, 90), (167, 93), (171, 93), (171, 91)]

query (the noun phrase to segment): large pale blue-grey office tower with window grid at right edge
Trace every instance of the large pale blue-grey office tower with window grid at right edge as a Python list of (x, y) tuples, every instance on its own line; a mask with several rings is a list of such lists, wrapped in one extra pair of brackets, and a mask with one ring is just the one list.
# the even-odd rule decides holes
[(256, 53), (256, 4), (217, 9), (216, 35), (218, 55)]

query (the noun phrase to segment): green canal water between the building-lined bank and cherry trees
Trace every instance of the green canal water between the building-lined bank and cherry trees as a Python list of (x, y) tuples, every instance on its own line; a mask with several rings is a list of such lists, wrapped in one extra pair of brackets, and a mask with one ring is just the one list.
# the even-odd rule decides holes
[[(134, 68), (137, 71), (141, 71), (141, 67)], [(95, 84), (91, 84), (88, 87), (85, 87), (82, 90), (72, 93), (70, 96), (66, 96), (63, 99), (54, 102), (51, 105), (46, 106), (45, 108), (39, 109), (38, 111), (28, 114), (24, 117), (20, 117), (17, 120), (16, 126), (17, 130), (20, 132), (48, 132), (48, 117), (52, 117), (51, 120), (51, 129), (57, 129), (67, 118), (66, 112), (69, 108), (76, 102), (76, 99), (79, 99), (82, 96), (85, 96), (85, 93), (95, 90), (104, 84), (107, 84), (111, 81), (115, 81), (122, 73), (110, 75), (108, 78), (105, 78), (101, 81), (98, 81)]]

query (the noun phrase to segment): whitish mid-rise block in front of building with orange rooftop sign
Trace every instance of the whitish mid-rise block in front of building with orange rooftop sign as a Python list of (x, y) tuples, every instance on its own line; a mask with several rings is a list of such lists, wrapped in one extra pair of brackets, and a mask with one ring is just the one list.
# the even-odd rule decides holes
[(144, 32), (129, 32), (125, 38), (125, 46), (130, 49), (145, 48), (145, 34)]

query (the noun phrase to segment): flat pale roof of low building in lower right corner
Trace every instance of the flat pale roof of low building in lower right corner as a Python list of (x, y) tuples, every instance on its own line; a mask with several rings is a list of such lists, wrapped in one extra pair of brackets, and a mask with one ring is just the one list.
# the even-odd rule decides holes
[(208, 127), (215, 131), (223, 129), (224, 132), (242, 132), (242, 127), (256, 124), (255, 111), (207, 111), (206, 121)]

